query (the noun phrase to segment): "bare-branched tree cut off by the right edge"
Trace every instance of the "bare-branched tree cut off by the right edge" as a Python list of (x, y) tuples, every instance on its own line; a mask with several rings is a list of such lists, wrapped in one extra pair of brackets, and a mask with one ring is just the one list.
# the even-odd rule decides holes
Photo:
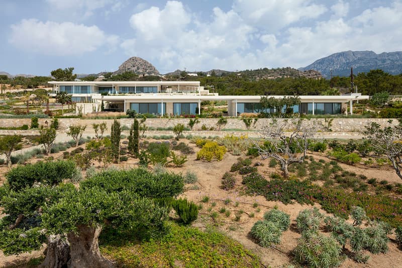
[(378, 123), (371, 122), (362, 131), (362, 134), (370, 141), (374, 151), (385, 154), (392, 163), (393, 169), (399, 178), (402, 178), (400, 169), (402, 168), (402, 123), (391, 125), (392, 120), (388, 120), (389, 126), (381, 127)]

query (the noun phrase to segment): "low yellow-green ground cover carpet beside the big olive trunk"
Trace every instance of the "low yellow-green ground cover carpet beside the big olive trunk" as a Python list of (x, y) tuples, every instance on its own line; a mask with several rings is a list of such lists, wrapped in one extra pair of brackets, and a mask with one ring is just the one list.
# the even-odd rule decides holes
[(169, 227), (168, 235), (141, 243), (130, 234), (105, 232), (100, 236), (100, 252), (126, 267), (167, 267), (179, 263), (188, 267), (262, 266), (256, 254), (215, 229), (202, 232), (177, 224)]

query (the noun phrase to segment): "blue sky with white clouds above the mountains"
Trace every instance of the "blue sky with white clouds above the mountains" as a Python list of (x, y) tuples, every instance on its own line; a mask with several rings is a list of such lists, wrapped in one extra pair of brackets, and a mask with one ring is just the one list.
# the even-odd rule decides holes
[(160, 73), (304, 67), (347, 50), (402, 50), (402, 0), (0, 0), (0, 71)]

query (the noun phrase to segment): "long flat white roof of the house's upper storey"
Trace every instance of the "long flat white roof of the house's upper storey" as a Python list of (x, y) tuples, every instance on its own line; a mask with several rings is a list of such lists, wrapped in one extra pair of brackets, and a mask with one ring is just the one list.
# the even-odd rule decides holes
[(199, 81), (49, 81), (54, 85), (96, 85), (96, 86), (150, 86), (150, 85), (188, 85), (199, 86)]

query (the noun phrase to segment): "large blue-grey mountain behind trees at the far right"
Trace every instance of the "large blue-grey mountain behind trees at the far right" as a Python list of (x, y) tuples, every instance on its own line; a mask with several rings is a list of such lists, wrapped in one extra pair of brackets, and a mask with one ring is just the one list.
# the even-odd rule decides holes
[(328, 78), (331, 69), (333, 75), (348, 76), (350, 67), (353, 67), (354, 73), (382, 69), (390, 74), (399, 74), (402, 73), (402, 51), (376, 54), (373, 51), (349, 50), (321, 58), (299, 70), (314, 69)]

